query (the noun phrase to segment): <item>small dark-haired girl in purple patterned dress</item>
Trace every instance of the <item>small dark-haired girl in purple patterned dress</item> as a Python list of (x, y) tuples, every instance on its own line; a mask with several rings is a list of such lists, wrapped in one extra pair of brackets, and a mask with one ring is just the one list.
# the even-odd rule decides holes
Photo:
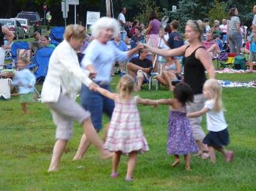
[(184, 82), (179, 82), (173, 90), (172, 99), (159, 99), (157, 104), (170, 106), (168, 120), (167, 154), (174, 155), (172, 164), (176, 167), (180, 162), (179, 155), (184, 155), (185, 170), (190, 170), (190, 153), (197, 152), (197, 144), (192, 136), (192, 128), (187, 118), (187, 102), (194, 100), (191, 87)]

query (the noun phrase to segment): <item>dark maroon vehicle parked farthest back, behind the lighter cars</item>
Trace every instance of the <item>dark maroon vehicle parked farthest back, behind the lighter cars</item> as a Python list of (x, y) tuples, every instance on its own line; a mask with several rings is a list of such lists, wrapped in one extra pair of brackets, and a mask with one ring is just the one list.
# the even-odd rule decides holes
[(26, 18), (29, 19), (30, 22), (34, 25), (34, 31), (39, 31), (41, 34), (41, 22), (40, 16), (38, 12), (19, 12), (17, 18)]

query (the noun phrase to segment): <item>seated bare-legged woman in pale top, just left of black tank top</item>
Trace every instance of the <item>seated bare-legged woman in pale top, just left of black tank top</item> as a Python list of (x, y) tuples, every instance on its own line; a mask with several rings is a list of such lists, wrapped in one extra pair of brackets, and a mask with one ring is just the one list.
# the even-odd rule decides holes
[(165, 58), (165, 64), (162, 64), (162, 75), (157, 74), (156, 78), (163, 85), (167, 85), (169, 90), (173, 90), (171, 81), (181, 80), (181, 63), (176, 58)]

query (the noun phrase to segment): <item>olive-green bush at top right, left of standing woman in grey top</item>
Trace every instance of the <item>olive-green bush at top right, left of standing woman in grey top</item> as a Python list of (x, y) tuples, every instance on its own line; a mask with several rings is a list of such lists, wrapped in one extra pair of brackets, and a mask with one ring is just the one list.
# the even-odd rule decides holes
[(214, 0), (214, 5), (208, 12), (208, 17), (211, 23), (213, 23), (214, 20), (219, 20), (221, 23), (222, 19), (227, 18), (227, 4), (219, 0)]

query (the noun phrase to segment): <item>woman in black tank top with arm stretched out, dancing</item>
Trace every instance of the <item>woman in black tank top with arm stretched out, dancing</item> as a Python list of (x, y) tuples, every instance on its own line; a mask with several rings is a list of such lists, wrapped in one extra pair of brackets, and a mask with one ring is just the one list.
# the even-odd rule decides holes
[[(187, 82), (192, 87), (195, 97), (193, 103), (187, 104), (188, 113), (200, 111), (203, 108), (203, 83), (206, 81), (205, 71), (208, 71), (208, 77), (215, 77), (214, 65), (201, 42), (203, 28), (202, 21), (188, 20), (185, 28), (185, 36), (189, 45), (185, 44), (173, 50), (162, 50), (144, 46), (148, 51), (157, 55), (165, 57), (184, 56), (184, 82)], [(208, 148), (202, 143), (206, 135), (200, 127), (201, 117), (189, 118), (189, 122), (192, 125), (193, 137), (200, 149), (199, 154), (202, 154), (204, 158), (208, 157)]]

